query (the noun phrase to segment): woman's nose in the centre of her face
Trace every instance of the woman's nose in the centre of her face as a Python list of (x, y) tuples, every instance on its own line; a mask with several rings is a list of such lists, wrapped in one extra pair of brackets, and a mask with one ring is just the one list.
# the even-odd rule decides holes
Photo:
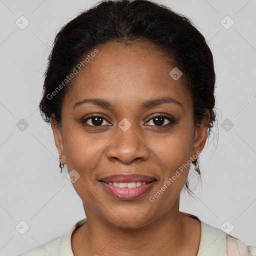
[(126, 131), (117, 126), (116, 133), (110, 140), (106, 154), (110, 161), (130, 164), (148, 159), (149, 149), (144, 137), (133, 125)]

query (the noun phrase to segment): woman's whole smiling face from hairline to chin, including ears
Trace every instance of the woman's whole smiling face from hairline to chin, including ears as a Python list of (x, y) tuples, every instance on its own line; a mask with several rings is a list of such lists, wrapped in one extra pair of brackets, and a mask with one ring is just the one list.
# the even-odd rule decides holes
[[(190, 157), (205, 143), (209, 113), (194, 126), (184, 77), (169, 75), (175, 65), (154, 45), (111, 42), (97, 49), (68, 85), (61, 125), (51, 118), (51, 127), (86, 216), (141, 227), (178, 211)], [(101, 101), (86, 100), (95, 98)], [(111, 184), (105, 178), (114, 174), (148, 179), (144, 184), (133, 176), (133, 183), (126, 181), (137, 187), (117, 188), (125, 180), (117, 176), (112, 181), (123, 182)]]

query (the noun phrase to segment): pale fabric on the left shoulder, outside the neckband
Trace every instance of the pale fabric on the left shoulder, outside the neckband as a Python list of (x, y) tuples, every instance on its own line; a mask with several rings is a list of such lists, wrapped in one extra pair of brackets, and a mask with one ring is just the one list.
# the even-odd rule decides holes
[(64, 234), (49, 240), (42, 245), (38, 245), (18, 256), (58, 256), (60, 242), (63, 239)]

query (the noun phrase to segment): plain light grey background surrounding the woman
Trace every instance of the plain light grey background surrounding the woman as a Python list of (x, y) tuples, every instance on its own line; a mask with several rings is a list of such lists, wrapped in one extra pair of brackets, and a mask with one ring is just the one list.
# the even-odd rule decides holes
[[(38, 246), (84, 217), (66, 167), (59, 173), (51, 128), (37, 106), (56, 31), (96, 2), (0, 0), (0, 255)], [(195, 199), (183, 194), (180, 210), (217, 228), (228, 220), (231, 235), (256, 246), (256, 0), (158, 2), (192, 19), (209, 43), (217, 75), (218, 123), (199, 157), (201, 189)], [(15, 23), (21, 15), (29, 21), (24, 29)], [(234, 21), (228, 29), (226, 15)], [(24, 234), (15, 229), (21, 220), (29, 226)]]

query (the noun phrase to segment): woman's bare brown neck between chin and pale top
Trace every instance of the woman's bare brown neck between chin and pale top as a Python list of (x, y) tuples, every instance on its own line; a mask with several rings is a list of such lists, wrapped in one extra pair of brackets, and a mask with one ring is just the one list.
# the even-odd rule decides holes
[(116, 255), (116, 251), (119, 256), (182, 255), (191, 231), (187, 218), (191, 218), (178, 207), (177, 201), (170, 211), (140, 228), (114, 226), (86, 208), (87, 222), (71, 237), (74, 255)]

